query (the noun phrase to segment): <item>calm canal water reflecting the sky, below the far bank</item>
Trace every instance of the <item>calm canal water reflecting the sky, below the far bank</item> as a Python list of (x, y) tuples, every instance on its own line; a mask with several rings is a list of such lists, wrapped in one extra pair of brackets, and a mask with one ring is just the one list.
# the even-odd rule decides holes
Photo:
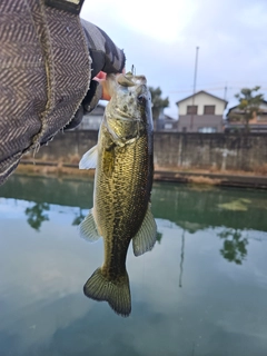
[(79, 238), (92, 181), (0, 187), (0, 355), (266, 356), (267, 192), (155, 184), (159, 229), (127, 268), (132, 312), (82, 287), (102, 241)]

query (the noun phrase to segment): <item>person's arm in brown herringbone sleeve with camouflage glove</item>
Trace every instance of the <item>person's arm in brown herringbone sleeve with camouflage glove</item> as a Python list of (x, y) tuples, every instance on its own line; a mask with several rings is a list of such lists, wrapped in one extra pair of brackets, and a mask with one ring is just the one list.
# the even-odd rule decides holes
[(121, 71), (125, 55), (96, 26), (44, 0), (1, 0), (0, 9), (1, 185), (24, 152), (92, 110), (101, 88), (91, 78)]

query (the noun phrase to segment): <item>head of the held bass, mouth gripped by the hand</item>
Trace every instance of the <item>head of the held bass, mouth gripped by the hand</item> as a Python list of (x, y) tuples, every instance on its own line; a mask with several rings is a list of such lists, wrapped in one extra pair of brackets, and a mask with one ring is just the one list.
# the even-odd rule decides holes
[(111, 99), (105, 123), (113, 141), (123, 146), (152, 127), (150, 91), (145, 76), (129, 72), (108, 76), (107, 80)]

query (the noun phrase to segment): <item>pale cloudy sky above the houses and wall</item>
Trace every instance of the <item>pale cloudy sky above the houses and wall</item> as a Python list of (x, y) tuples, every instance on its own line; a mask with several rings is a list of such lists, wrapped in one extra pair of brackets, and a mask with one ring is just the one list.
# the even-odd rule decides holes
[(129, 71), (147, 77), (168, 97), (165, 113), (177, 119), (176, 102), (206, 90), (238, 103), (241, 88), (260, 86), (267, 100), (266, 0), (86, 0), (81, 18), (97, 24), (125, 50)]

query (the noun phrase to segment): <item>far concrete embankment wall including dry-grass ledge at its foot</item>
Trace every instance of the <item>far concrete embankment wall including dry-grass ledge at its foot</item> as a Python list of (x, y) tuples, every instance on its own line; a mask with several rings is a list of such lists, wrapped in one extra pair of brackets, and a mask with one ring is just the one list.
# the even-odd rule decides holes
[[(97, 131), (58, 134), (34, 159), (26, 156), (19, 170), (87, 175), (78, 162), (97, 138)], [(267, 136), (155, 132), (155, 180), (266, 189)]]

